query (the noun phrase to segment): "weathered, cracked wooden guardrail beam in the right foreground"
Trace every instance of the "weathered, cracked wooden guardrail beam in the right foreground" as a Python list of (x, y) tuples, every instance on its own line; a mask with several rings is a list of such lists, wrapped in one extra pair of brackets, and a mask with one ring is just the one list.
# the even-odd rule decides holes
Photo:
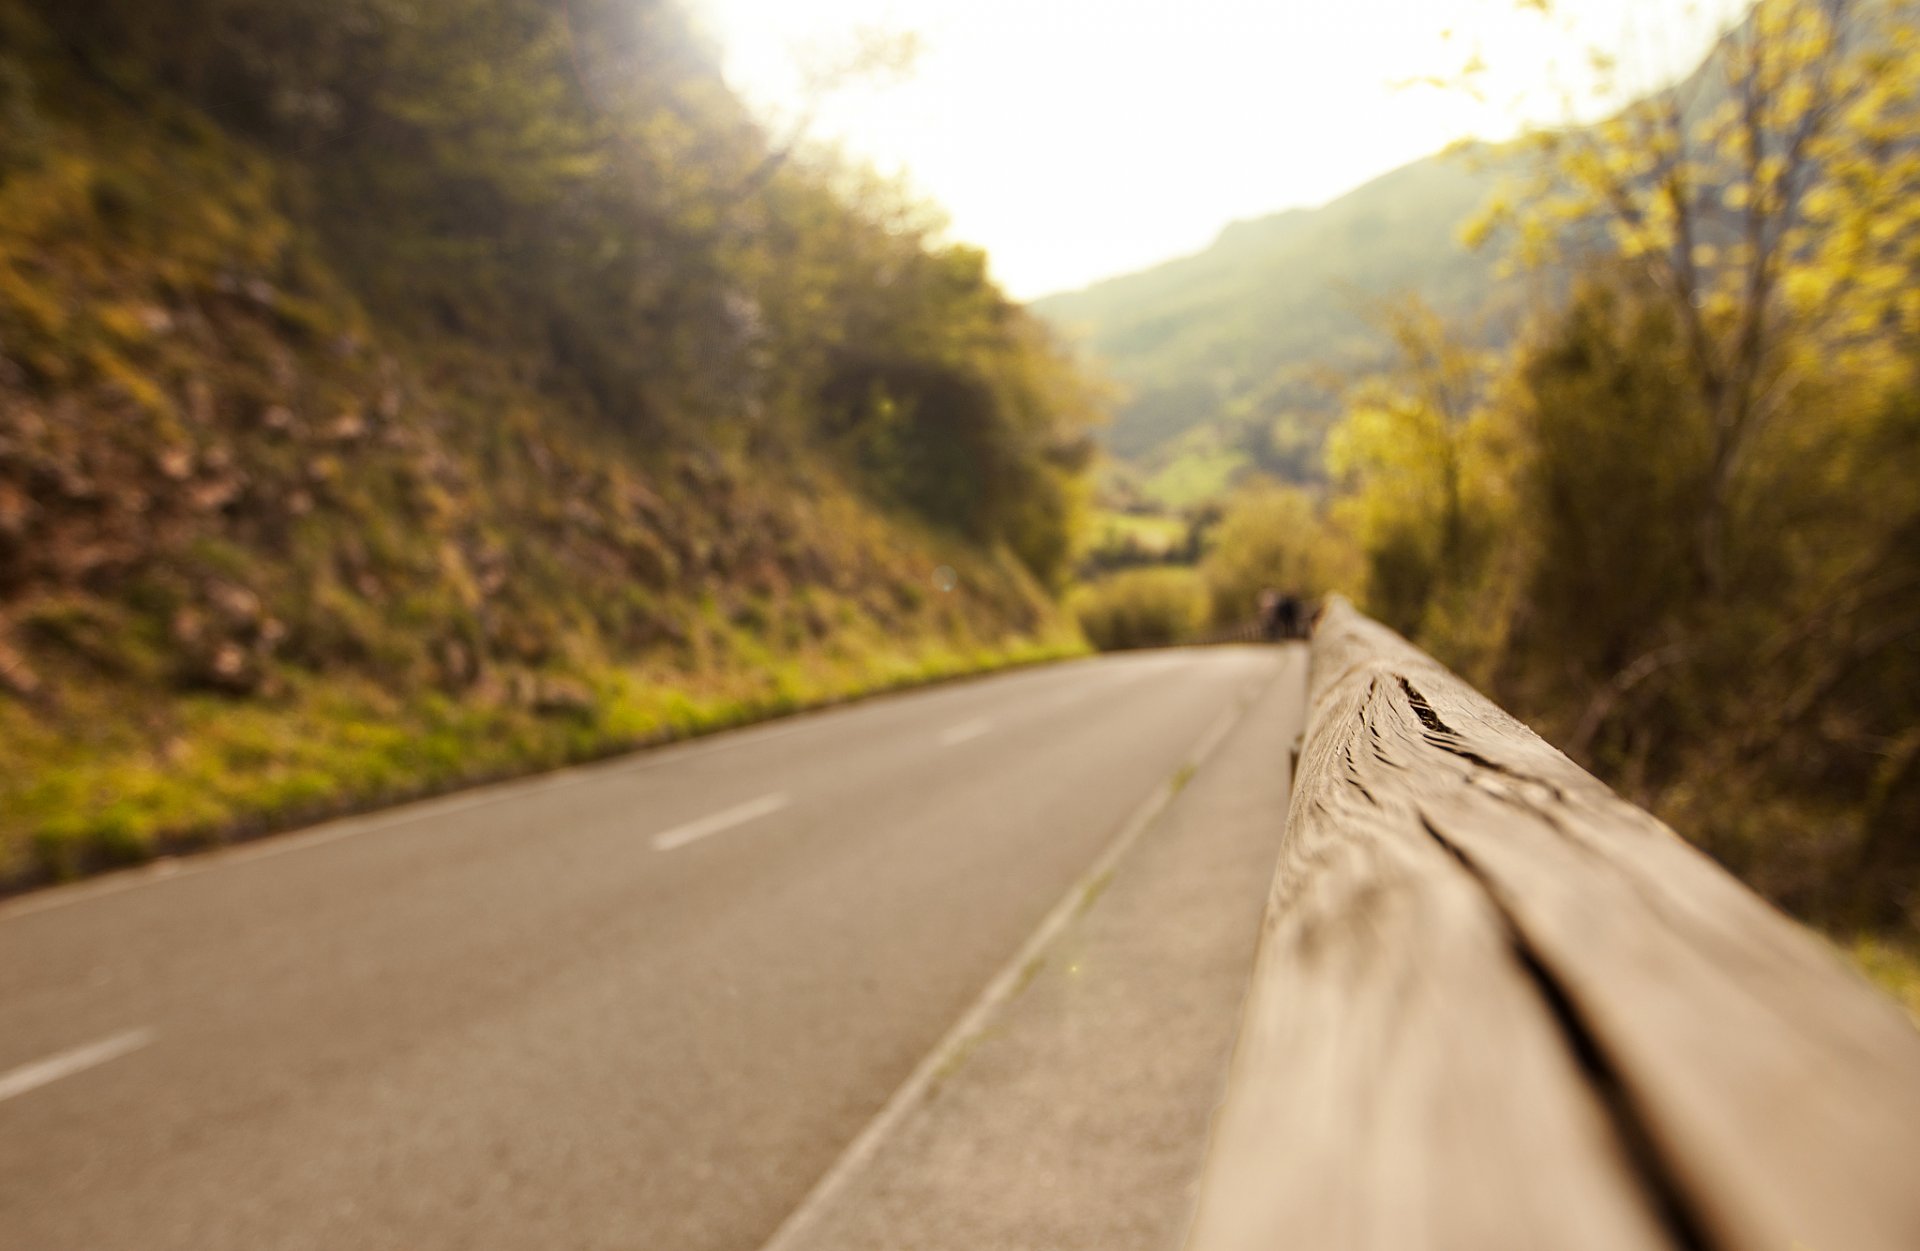
[(1914, 1251), (1920, 1032), (1331, 601), (1188, 1251)]

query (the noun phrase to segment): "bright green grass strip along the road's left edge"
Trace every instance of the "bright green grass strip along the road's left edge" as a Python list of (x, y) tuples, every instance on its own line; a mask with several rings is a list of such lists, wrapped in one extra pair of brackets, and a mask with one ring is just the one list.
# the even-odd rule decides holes
[[(745, 641), (730, 641), (733, 649)], [(367, 681), (271, 702), (180, 700), (156, 744), (106, 718), (52, 733), (0, 706), (0, 885), (65, 881), (353, 808), (745, 725), (916, 683), (1079, 654), (1069, 635), (764, 654), (701, 673), (601, 668), (580, 710), (509, 698), (394, 696)], [(108, 695), (109, 696), (109, 695)]]

